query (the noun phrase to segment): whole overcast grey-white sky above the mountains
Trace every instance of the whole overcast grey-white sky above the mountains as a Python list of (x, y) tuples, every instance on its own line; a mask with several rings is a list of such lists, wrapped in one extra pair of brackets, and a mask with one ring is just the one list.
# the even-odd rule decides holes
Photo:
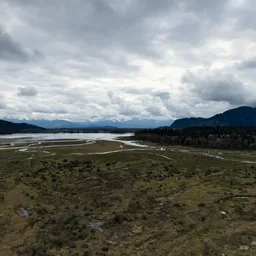
[(255, 0), (0, 0), (0, 117), (255, 106), (255, 17)]

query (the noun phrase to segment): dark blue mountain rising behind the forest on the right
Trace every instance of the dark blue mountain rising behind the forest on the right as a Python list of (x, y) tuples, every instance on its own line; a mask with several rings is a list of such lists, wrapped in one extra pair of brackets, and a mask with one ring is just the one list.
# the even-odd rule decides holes
[(195, 126), (256, 126), (256, 108), (239, 107), (210, 118), (182, 118), (176, 120), (171, 128)]

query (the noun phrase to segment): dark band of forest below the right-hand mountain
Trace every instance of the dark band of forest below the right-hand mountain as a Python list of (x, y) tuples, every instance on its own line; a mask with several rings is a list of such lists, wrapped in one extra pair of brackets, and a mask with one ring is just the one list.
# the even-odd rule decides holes
[(135, 139), (166, 145), (219, 149), (256, 149), (256, 127), (161, 127), (135, 133)]

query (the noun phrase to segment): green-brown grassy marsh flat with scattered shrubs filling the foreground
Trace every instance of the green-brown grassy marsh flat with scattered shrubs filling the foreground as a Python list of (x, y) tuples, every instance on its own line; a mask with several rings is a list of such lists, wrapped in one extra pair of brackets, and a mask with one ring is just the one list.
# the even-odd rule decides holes
[(0, 255), (256, 255), (255, 152), (128, 149), (0, 151)]

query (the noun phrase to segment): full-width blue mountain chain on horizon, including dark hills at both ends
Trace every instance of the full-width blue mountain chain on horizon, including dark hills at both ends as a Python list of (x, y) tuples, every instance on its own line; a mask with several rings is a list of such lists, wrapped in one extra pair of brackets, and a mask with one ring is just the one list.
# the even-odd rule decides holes
[[(21, 120), (6, 118), (4, 120), (0, 120), (0, 134), (40, 132), (44, 129), (61, 128), (157, 128), (163, 126), (169, 127), (171, 123), (172, 121), (170, 120), (157, 121), (152, 119), (71, 122), (67, 120)], [(174, 121), (170, 127), (187, 128), (198, 126), (256, 126), (256, 108), (246, 106), (239, 107), (214, 115), (210, 118), (181, 118)]]

